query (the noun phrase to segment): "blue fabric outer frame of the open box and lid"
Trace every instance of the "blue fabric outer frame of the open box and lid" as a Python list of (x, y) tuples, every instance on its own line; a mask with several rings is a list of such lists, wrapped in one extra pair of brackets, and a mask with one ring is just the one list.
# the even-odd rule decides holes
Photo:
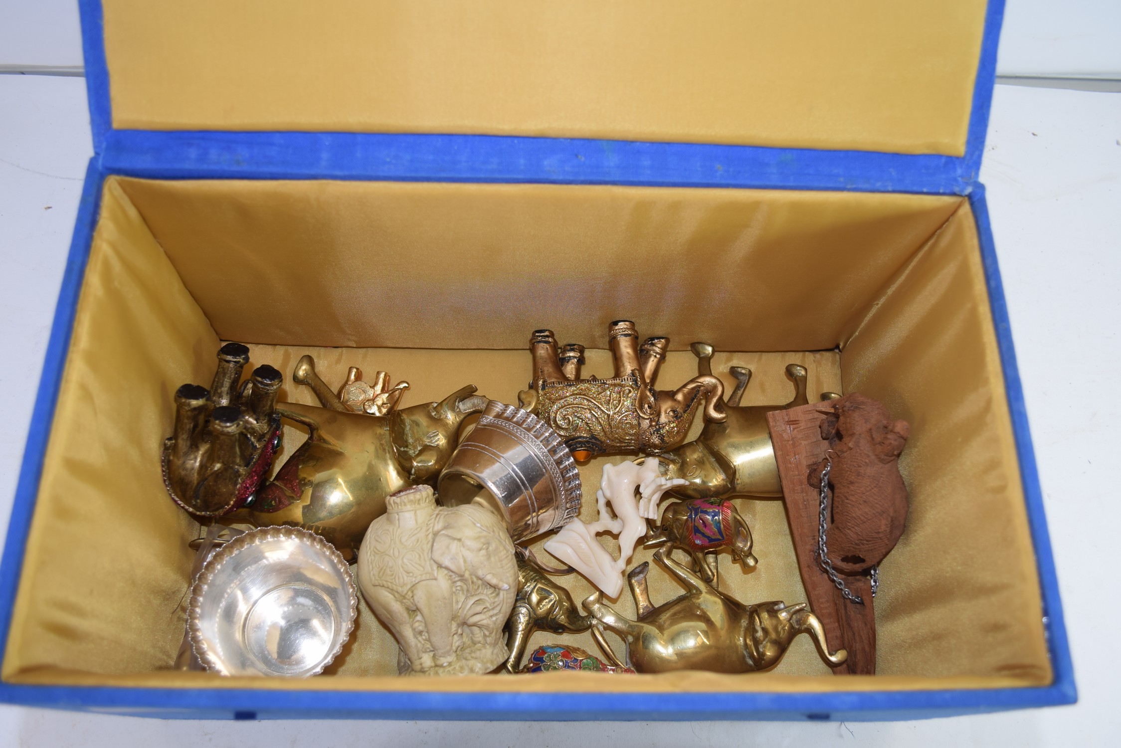
[[(109, 4), (113, 6), (113, 12), (127, 17), (127, 3), (106, 2)], [(131, 27), (127, 22), (119, 22), (112, 27), (115, 36), (106, 36), (110, 25), (103, 24), (102, 4), (99, 0), (82, 0), (81, 7), (95, 155), (86, 176), (0, 566), (0, 630), (7, 643), (6, 661), (13, 657), (13, 647), (19, 646), (10, 639), (13, 610), (17, 608), (21, 579), (25, 579), (22, 574), (27, 571), (25, 553), (29, 553), (28, 538), (33, 532), (48, 443), (56, 423), (56, 404), (71, 355), (72, 334), (80, 313), (80, 292), (86, 277), (91, 244), (103, 209), (106, 178), (261, 182), (326, 179), (695, 190), (719, 187), (966, 197), (975, 219), (980, 259), (1003, 373), (1003, 390), (1015, 434), (1016, 459), (1027, 506), (1030, 544), (1038, 567), (1041, 616), (1053, 675), (1047, 685), (1023, 687), (928, 686), (878, 690), (874, 685), (862, 685), (852, 690), (833, 687), (824, 691), (776, 687), (726, 692), (673, 692), (654, 689), (643, 692), (617, 689), (615, 681), (608, 681), (605, 687), (594, 691), (548, 692), (525, 690), (517, 681), (510, 681), (508, 690), (472, 692), (441, 690), (443, 686), (436, 683), (430, 684), (428, 690), (413, 685), (388, 691), (363, 691), (360, 687), (336, 690), (322, 678), (315, 684), (309, 683), (307, 689), (275, 689), (270, 684), (258, 687), (244, 682), (234, 687), (215, 686), (206, 678), (175, 686), (139, 686), (112, 680), (101, 681), (96, 673), (37, 680), (22, 677), (26, 673), (21, 671), (15, 674), (17, 676), (11, 676), (6, 667), (3, 682), (0, 683), (0, 699), (38, 707), (191, 718), (673, 720), (912, 719), (1075, 701), (1076, 691), (1062, 603), (992, 246), (984, 187), (978, 182), (1003, 12), (1001, 0), (991, 0), (984, 13), (972, 104), (967, 112), (967, 135), (964, 151), (956, 155), (944, 153), (947, 148), (938, 144), (929, 147), (924, 144), (905, 144), (895, 151), (891, 148), (876, 150), (869, 147), (846, 149), (835, 144), (831, 147), (830, 142), (822, 147), (788, 147), (781, 142), (782, 132), (773, 128), (771, 131), (778, 132), (777, 142), (765, 142), (768, 138), (758, 133), (748, 133), (739, 139), (733, 132), (734, 118), (729, 120), (733, 123), (733, 130), (715, 132), (711, 139), (697, 138), (693, 142), (687, 141), (687, 138), (675, 137), (664, 124), (658, 126), (661, 127), (660, 130), (651, 126), (649, 132), (655, 135), (648, 139), (634, 140), (575, 137), (581, 130), (580, 123), (550, 129), (550, 123), (546, 122), (540, 126), (540, 133), (534, 131), (534, 128), (517, 124), (508, 129), (488, 128), (485, 122), (473, 122), (458, 129), (442, 131), (438, 123), (432, 124), (432, 121), (438, 122), (437, 116), (419, 118), (424, 121), (418, 122), (411, 131), (393, 123), (382, 128), (360, 123), (350, 128), (352, 131), (345, 132), (328, 131), (319, 126), (256, 128), (253, 122), (241, 122), (229, 130), (175, 126), (175, 122), (150, 128), (137, 127), (143, 123), (143, 95), (120, 92), (121, 113), (113, 110), (110, 96), (111, 87), (115, 85), (110, 76), (112, 55), (121, 54), (120, 59), (132, 61), (129, 64), (135, 64), (137, 59), (112, 52), (113, 44), (123, 44), (121, 29), (128, 30)], [(261, 20), (262, 24), (268, 21), (267, 18)], [(472, 29), (464, 29), (463, 33), (470, 35)], [(641, 34), (641, 30), (634, 31), (638, 37)], [(108, 63), (106, 47), (110, 49)], [(142, 55), (142, 50), (132, 54)], [(859, 56), (861, 50), (854, 49), (852, 54)], [(146, 85), (158, 87), (158, 79), (156, 80), (156, 84), (149, 81)], [(155, 90), (147, 89), (149, 93)], [(192, 95), (198, 98), (200, 93), (196, 91), (184, 95), (188, 99)], [(114, 102), (117, 96), (118, 92), (114, 91)], [(205, 98), (204, 92), (202, 99)], [(175, 117), (177, 116), (173, 114), (170, 119), (175, 120)], [(812, 119), (813, 116), (807, 117)], [(624, 124), (620, 131), (626, 128)], [(592, 129), (597, 133), (604, 131), (602, 128)], [(559, 137), (554, 132), (572, 137)], [(661, 138), (657, 132), (666, 135)], [(836, 142), (849, 137), (839, 136)], [(738, 140), (744, 140), (748, 145)], [(793, 133), (790, 140), (804, 145), (813, 142), (814, 136)], [(528, 330), (527, 327), (527, 334)], [(323, 344), (355, 343), (324, 341)], [(393, 347), (405, 343), (389, 341), (378, 344)], [(492, 343), (481, 344), (480, 348), (503, 345)], [(808, 347), (803, 348), (808, 350)], [(152, 500), (159, 500), (159, 497)], [(946, 646), (952, 646), (952, 641)]]

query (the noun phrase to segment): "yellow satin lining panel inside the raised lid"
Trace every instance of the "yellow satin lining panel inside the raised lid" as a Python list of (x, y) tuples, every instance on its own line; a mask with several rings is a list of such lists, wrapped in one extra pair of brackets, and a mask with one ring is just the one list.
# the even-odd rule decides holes
[(984, 0), (104, 0), (113, 126), (964, 153)]

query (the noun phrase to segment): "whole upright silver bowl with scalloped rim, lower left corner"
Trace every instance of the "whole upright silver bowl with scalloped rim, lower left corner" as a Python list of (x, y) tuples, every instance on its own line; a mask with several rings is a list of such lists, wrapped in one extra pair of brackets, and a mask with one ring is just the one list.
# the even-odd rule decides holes
[(358, 589), (330, 543), (299, 527), (241, 535), (191, 591), (191, 645), (221, 675), (318, 675), (354, 630)]

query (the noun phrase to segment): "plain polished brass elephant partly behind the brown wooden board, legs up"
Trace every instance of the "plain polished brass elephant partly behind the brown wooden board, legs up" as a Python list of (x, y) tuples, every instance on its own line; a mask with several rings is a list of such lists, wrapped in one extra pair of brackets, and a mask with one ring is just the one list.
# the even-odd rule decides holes
[[(712, 373), (712, 345), (694, 343), (697, 370), (701, 376)], [(740, 399), (751, 379), (751, 369), (732, 367), (736, 379), (735, 389), (723, 406), (725, 418), (705, 423), (701, 435), (661, 456), (663, 475), (682, 478), (686, 486), (673, 489), (675, 496), (686, 499), (720, 499), (734, 495), (782, 496), (779, 482), (775, 447), (767, 426), (767, 414), (771, 410), (807, 405), (806, 368), (790, 363), (786, 376), (794, 382), (794, 399), (786, 405), (741, 406)], [(835, 393), (823, 393), (822, 399), (839, 397)]]

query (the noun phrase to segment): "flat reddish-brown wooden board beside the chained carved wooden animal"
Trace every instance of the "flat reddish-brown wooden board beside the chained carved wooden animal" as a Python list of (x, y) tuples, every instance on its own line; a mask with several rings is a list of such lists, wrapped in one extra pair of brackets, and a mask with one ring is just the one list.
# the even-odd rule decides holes
[(830, 650), (844, 648), (849, 659), (833, 668), (835, 675), (876, 673), (876, 612), (871, 581), (867, 576), (842, 576), (849, 590), (864, 600), (845, 600), (817, 563), (817, 527), (821, 496), (809, 482), (809, 469), (825, 456), (821, 403), (767, 414), (775, 459), (782, 481), (786, 516), (790, 523), (798, 571), (809, 607), (822, 621)]

